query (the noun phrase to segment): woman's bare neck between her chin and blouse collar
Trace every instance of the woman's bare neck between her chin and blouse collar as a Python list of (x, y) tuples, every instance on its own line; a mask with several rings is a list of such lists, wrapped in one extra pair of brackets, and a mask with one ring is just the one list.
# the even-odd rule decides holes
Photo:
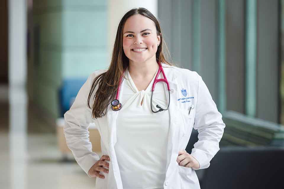
[(158, 63), (156, 62), (156, 58), (151, 61), (146, 62), (133, 62), (129, 61), (128, 71), (131, 77), (134, 78), (146, 78), (149, 76), (153, 76), (157, 69), (158, 69)]

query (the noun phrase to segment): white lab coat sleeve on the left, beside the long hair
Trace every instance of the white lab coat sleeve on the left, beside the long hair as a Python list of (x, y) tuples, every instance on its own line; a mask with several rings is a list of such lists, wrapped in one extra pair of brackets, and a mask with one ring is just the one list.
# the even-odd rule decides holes
[(100, 159), (98, 154), (92, 151), (92, 144), (89, 140), (88, 127), (92, 122), (92, 116), (87, 100), (92, 84), (91, 78), (89, 76), (79, 90), (70, 110), (64, 114), (64, 134), (67, 146), (87, 175), (93, 164)]

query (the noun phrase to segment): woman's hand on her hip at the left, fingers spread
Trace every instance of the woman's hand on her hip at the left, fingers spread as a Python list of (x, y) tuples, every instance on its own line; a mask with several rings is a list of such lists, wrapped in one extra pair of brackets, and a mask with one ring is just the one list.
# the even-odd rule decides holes
[(110, 161), (109, 156), (103, 155), (103, 156), (101, 157), (101, 159), (98, 160), (98, 161), (90, 168), (90, 170), (88, 171), (88, 175), (89, 175), (90, 177), (104, 178), (104, 175), (100, 175), (100, 174), (99, 174), (100, 171), (103, 171), (103, 172), (105, 172), (105, 173), (109, 173), (109, 170), (108, 170), (108, 169), (103, 168), (103, 166), (109, 168), (109, 163), (108, 163), (108, 162), (105, 162), (104, 160)]

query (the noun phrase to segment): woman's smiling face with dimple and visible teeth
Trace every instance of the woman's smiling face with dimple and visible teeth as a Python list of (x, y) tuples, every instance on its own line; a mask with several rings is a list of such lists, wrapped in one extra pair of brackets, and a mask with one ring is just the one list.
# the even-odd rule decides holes
[(141, 14), (129, 17), (123, 28), (123, 50), (129, 63), (156, 62), (156, 52), (160, 44), (155, 23)]

